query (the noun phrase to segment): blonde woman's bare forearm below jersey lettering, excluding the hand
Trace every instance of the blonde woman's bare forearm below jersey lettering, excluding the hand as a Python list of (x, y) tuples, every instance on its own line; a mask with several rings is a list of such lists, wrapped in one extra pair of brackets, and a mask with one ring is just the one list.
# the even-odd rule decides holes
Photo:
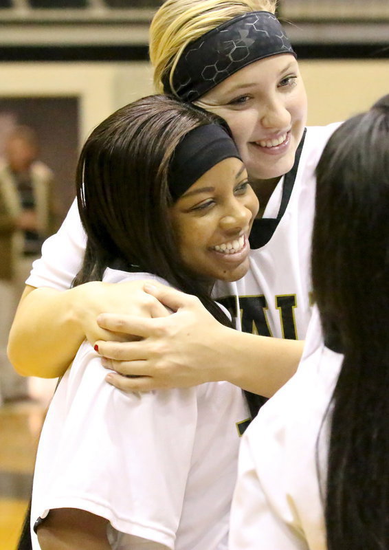
[(271, 397), (296, 372), (304, 342), (229, 330), (215, 347), (223, 353), (214, 359), (211, 377)]

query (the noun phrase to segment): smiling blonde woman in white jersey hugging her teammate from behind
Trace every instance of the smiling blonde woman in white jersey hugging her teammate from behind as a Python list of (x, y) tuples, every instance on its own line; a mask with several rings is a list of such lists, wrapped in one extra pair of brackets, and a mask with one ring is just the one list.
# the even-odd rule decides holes
[[(168, 0), (151, 25), (157, 89), (227, 120), (260, 201), (249, 272), (214, 288), (246, 333), (174, 289), (154, 285), (146, 294), (142, 282), (125, 292), (98, 282), (69, 289), (85, 251), (73, 207), (45, 243), (16, 314), (9, 353), (21, 373), (60, 375), (85, 336), (98, 340), (104, 364), (140, 375), (109, 375), (125, 391), (230, 380), (269, 396), (296, 370), (312, 308), (315, 166), (335, 126), (304, 129), (304, 85), (274, 10), (268, 0)], [(235, 240), (218, 236), (210, 245)], [(177, 314), (157, 319), (165, 311), (159, 300)]]

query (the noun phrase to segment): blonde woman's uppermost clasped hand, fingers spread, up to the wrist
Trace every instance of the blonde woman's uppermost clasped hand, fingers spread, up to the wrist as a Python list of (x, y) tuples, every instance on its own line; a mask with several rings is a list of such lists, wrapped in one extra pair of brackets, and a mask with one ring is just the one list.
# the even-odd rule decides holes
[[(217, 322), (194, 296), (169, 287), (145, 285), (173, 314), (164, 318), (135, 318), (102, 314), (98, 324), (124, 339), (137, 342), (96, 342), (103, 364), (125, 376), (110, 373), (107, 380), (124, 391), (188, 387), (223, 380), (223, 342), (232, 329)], [(226, 333), (227, 331), (227, 333)], [(234, 331), (232, 331), (234, 332)]]

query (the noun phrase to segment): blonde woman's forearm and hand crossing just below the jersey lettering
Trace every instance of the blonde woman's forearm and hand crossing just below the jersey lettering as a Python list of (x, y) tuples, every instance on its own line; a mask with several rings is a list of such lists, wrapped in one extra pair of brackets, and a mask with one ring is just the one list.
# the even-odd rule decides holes
[(228, 380), (271, 397), (296, 372), (304, 342), (282, 340), (229, 329), (217, 322), (197, 298), (174, 289), (148, 291), (173, 309), (164, 319), (104, 314), (100, 327), (133, 333), (137, 342), (98, 342), (107, 381), (124, 391), (189, 387)]

